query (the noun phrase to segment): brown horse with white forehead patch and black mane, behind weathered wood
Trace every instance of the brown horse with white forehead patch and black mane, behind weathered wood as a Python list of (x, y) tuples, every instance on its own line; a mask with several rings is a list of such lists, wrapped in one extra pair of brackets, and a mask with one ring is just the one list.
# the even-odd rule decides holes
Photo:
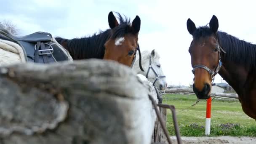
[(139, 16), (132, 23), (127, 17), (117, 13), (120, 24), (112, 12), (108, 15), (110, 29), (94, 34), (90, 37), (74, 38), (71, 40), (55, 37), (73, 59), (106, 59), (118, 61), (121, 64), (132, 66), (137, 50), (139, 51), (139, 66), (141, 54), (138, 44), (138, 35), (141, 25)]

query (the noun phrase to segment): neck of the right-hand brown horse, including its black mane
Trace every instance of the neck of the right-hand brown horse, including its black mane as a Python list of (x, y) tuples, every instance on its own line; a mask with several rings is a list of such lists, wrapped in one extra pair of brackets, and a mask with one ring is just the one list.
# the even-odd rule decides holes
[(221, 77), (243, 95), (246, 90), (253, 88), (253, 78), (255, 75), (255, 54), (256, 45), (239, 40), (225, 32), (218, 32), (220, 46), (226, 54), (221, 52), (222, 67), (219, 71)]

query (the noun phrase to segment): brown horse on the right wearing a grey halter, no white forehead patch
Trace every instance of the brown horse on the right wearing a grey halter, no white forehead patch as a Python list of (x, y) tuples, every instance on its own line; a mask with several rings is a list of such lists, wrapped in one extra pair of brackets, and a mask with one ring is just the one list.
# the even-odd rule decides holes
[(256, 45), (218, 31), (219, 22), (213, 15), (209, 27), (195, 27), (190, 19), (187, 29), (193, 36), (189, 47), (193, 91), (198, 99), (208, 99), (211, 83), (219, 73), (234, 88), (243, 111), (256, 120)]

